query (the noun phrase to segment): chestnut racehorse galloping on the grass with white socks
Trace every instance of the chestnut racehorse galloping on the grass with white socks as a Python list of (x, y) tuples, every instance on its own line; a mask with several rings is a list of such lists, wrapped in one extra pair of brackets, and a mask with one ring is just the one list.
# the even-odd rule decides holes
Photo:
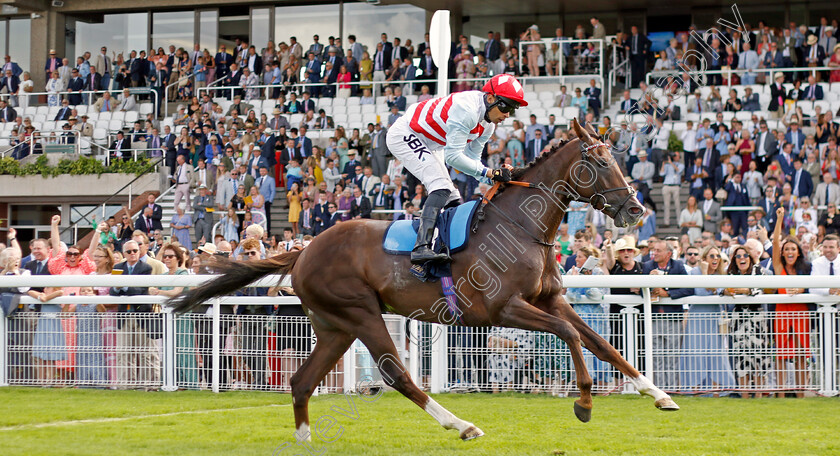
[[(590, 202), (617, 226), (636, 223), (644, 213), (627, 186), (609, 146), (581, 128), (577, 138), (555, 146), (526, 168), (516, 169), (520, 185), (504, 185), (483, 208), (469, 245), (456, 254), (452, 277), (459, 298), (459, 324), (502, 326), (555, 334), (568, 344), (580, 399), (575, 415), (589, 421), (592, 378), (581, 347), (612, 364), (656, 407), (677, 410), (671, 398), (630, 365), (609, 342), (575, 313), (561, 294), (562, 278), (553, 239), (572, 200)], [(523, 181), (529, 185), (523, 185)], [(441, 285), (421, 282), (410, 272), (408, 256), (386, 254), (381, 245), (388, 223), (354, 220), (316, 237), (305, 250), (254, 262), (230, 263), (225, 273), (173, 300), (187, 311), (229, 294), (269, 274), (291, 274), (292, 286), (317, 335), (312, 354), (291, 378), (298, 438), (309, 438), (309, 398), (358, 338), (378, 361), (385, 382), (462, 439), (483, 435), (427, 396), (411, 380), (388, 333), (382, 313), (450, 324), (441, 305)], [(324, 278), (329, 277), (329, 284)]]

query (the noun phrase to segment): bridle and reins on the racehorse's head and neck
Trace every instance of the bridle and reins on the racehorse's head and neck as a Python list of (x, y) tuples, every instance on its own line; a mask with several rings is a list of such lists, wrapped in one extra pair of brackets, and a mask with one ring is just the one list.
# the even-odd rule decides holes
[[(595, 175), (592, 176), (594, 178), (593, 179), (594, 182), (593, 182), (592, 185), (594, 187), (595, 193), (593, 193), (592, 196), (590, 196), (588, 199), (580, 196), (577, 192), (569, 192), (569, 191), (564, 190), (562, 188), (548, 189), (545, 186), (539, 186), (539, 185), (533, 184), (531, 182), (509, 181), (509, 182), (506, 182), (506, 185), (514, 185), (514, 186), (517, 186), (517, 187), (533, 188), (533, 189), (539, 189), (539, 190), (542, 190), (542, 191), (551, 192), (551, 193), (554, 193), (555, 195), (564, 196), (566, 198), (569, 198), (571, 201), (588, 203), (588, 204), (592, 205), (593, 208), (595, 208), (599, 211), (603, 211), (606, 215), (608, 215), (610, 217), (615, 218), (617, 216), (620, 216), (621, 215), (621, 210), (624, 209), (624, 206), (626, 206), (627, 203), (629, 203), (633, 198), (636, 197), (636, 191), (633, 189), (633, 187), (630, 187), (626, 183), (623, 187), (613, 187), (613, 188), (608, 188), (608, 189), (601, 188), (601, 184), (600, 184), (600, 181), (598, 179), (599, 174), (601, 173), (601, 170), (605, 170), (605, 169), (609, 168), (610, 163), (607, 162), (607, 161), (604, 161), (603, 159), (601, 159), (600, 157), (598, 157), (596, 155), (591, 154), (590, 151), (597, 150), (599, 147), (602, 147), (602, 146), (609, 149), (609, 146), (607, 144), (605, 144), (603, 142), (600, 142), (600, 141), (598, 141), (594, 144), (591, 144), (591, 145), (587, 145), (583, 141), (580, 141), (581, 160), (584, 161), (584, 162), (588, 162), (590, 164), (592, 163), (592, 161), (595, 162), (595, 168), (594, 168)], [(492, 201), (493, 196), (496, 194), (496, 191), (498, 190), (499, 186), (500, 186), (500, 183), (496, 182), (493, 185), (493, 187), (490, 190), (488, 190), (487, 193), (485, 193), (481, 197), (481, 207), (478, 209), (479, 219), (484, 218), (484, 206), (485, 205), (490, 205), (491, 207), (496, 209), (496, 211), (499, 214), (501, 214), (502, 217), (504, 217), (508, 222), (512, 223), (513, 225), (518, 227), (520, 230), (524, 231), (537, 244), (540, 244), (540, 245), (546, 246), (546, 247), (554, 247), (554, 243), (545, 242), (542, 239), (540, 239), (539, 237), (535, 236), (527, 228), (525, 228), (524, 226), (519, 224), (517, 221), (513, 220), (510, 216), (508, 216), (504, 211), (499, 209), (499, 207), (496, 206), (493, 203), (493, 201)], [(611, 193), (611, 192), (618, 192), (618, 191), (621, 191), (621, 190), (627, 190), (627, 196), (621, 201), (621, 203), (617, 207), (609, 204), (607, 202), (606, 194)], [(476, 232), (476, 227), (473, 227), (473, 233), (475, 233), (475, 232)]]

